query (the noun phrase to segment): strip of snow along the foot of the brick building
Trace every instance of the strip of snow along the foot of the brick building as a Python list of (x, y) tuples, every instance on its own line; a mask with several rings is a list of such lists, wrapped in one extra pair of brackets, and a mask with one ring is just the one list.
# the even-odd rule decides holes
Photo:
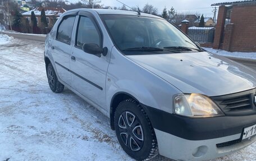
[(213, 49), (213, 48), (204, 48), (204, 49), (207, 50), (210, 53), (218, 54), (220, 56), (256, 60), (256, 52), (250, 52), (250, 53), (246, 53), (246, 52), (227, 52), (225, 50)]

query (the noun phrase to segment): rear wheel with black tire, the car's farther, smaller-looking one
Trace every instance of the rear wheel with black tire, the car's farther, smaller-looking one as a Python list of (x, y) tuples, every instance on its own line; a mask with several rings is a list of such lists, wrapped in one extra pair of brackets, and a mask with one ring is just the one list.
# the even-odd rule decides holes
[(51, 63), (49, 63), (49, 65), (47, 66), (46, 73), (51, 90), (54, 93), (61, 93), (64, 89), (64, 85), (58, 81), (58, 78)]

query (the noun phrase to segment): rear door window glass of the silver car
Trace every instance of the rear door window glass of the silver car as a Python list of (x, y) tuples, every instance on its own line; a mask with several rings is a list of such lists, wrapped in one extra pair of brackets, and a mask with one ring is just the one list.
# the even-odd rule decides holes
[(74, 21), (75, 16), (66, 17), (61, 21), (61, 24), (58, 26), (57, 40), (70, 44)]

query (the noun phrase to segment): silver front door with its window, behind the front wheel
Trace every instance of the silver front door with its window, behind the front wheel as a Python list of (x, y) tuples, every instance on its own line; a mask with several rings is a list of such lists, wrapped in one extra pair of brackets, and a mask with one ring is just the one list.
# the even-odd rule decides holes
[(92, 14), (79, 12), (75, 45), (71, 54), (73, 59), (70, 61), (72, 87), (99, 107), (105, 107), (109, 58), (85, 53), (82, 49), (84, 43), (94, 43), (103, 47), (103, 34)]

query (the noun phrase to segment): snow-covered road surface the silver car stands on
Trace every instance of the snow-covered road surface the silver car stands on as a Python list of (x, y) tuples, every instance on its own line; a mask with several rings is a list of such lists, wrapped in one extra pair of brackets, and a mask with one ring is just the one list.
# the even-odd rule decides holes
[[(21, 39), (0, 45), (0, 160), (132, 160), (106, 116), (68, 89), (49, 89), (43, 45)], [(212, 161), (255, 158), (254, 143)]]

